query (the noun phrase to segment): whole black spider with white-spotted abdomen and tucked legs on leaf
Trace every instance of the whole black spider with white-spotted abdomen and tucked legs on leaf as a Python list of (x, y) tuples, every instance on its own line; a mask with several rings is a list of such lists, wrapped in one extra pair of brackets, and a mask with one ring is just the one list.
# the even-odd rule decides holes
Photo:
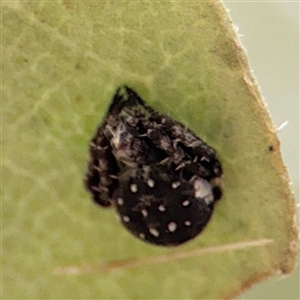
[(121, 87), (90, 143), (86, 187), (136, 237), (174, 246), (209, 221), (221, 175), (211, 147)]

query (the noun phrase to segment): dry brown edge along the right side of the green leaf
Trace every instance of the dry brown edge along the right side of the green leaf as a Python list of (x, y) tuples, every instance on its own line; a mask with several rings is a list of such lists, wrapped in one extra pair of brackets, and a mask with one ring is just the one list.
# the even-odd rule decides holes
[(288, 187), (283, 191), (283, 199), (286, 200), (289, 217), (291, 219), (291, 226), (288, 232), (288, 240), (290, 241), (290, 243), (285, 255), (282, 257), (280, 268), (270, 270), (269, 272), (266, 272), (264, 274), (253, 276), (247, 282), (244, 282), (243, 286), (223, 297), (223, 299), (233, 299), (244, 293), (256, 283), (265, 281), (269, 277), (274, 276), (278, 273), (282, 275), (290, 274), (296, 268), (298, 257), (297, 207), (293, 192), (291, 190), (291, 182), (289, 179), (288, 171), (282, 161), (280, 141), (276, 135), (277, 129), (273, 125), (271, 117), (259, 91), (257, 82), (252, 75), (245, 50), (241, 44), (240, 39), (238, 38), (238, 35), (224, 5), (219, 1), (214, 1), (213, 5), (215, 6), (216, 11), (219, 14), (219, 20), (221, 22), (220, 26), (223, 27), (224, 31), (227, 32), (229, 39), (231, 39), (233, 49), (235, 49), (237, 60), (244, 73), (243, 80), (248, 87), (249, 92), (253, 95), (254, 105), (256, 106), (257, 113), (258, 115), (260, 115), (261, 120), (265, 123), (265, 127), (268, 130), (267, 135), (269, 139), (269, 150), (273, 154), (272, 167), (274, 168), (275, 172), (280, 174), (281, 180), (284, 185)]

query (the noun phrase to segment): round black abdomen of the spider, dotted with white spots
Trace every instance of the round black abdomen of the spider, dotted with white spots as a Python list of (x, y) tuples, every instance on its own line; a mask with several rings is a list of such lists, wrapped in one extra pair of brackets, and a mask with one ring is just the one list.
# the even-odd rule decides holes
[(180, 182), (168, 169), (151, 171), (148, 182), (142, 169), (138, 173), (128, 174), (114, 195), (123, 225), (135, 236), (157, 245), (175, 246), (198, 235), (213, 205), (190, 193), (193, 184)]

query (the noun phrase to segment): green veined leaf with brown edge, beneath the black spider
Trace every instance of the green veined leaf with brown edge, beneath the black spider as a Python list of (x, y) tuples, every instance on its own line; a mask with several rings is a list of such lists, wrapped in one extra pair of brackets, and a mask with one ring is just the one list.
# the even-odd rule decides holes
[[(224, 299), (292, 271), (289, 178), (218, 1), (3, 2), (2, 24), (3, 299)], [(121, 84), (222, 162), (224, 197), (183, 246), (135, 239), (84, 190), (88, 142)]]

